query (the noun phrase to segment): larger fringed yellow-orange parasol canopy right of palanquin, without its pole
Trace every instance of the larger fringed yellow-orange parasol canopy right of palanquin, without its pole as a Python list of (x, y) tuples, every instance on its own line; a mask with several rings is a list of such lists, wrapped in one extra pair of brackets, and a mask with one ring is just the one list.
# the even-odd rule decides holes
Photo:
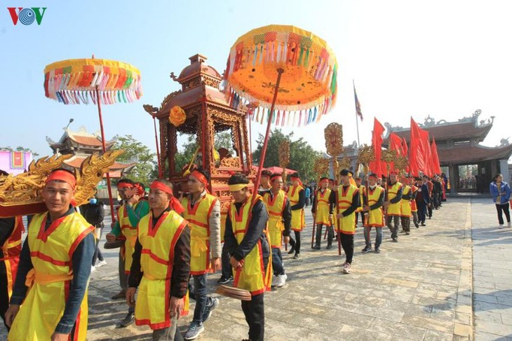
[(309, 124), (328, 113), (336, 97), (336, 57), (323, 39), (286, 25), (252, 29), (234, 43), (224, 73), (228, 102), (234, 107), (250, 102), (257, 107), (255, 119), (263, 123), (278, 69), (283, 72), (274, 123)]

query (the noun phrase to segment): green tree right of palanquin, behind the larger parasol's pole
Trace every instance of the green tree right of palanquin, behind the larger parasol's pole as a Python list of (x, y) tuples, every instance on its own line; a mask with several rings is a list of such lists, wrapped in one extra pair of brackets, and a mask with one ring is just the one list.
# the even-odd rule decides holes
[[(288, 168), (299, 172), (303, 182), (314, 180), (316, 174), (314, 174), (313, 166), (316, 158), (320, 157), (321, 153), (315, 151), (302, 137), (295, 141), (292, 140), (292, 137), (293, 132), (285, 135), (277, 128), (271, 131), (263, 167), (279, 166), (279, 145), (281, 142), (288, 140), (290, 142), (290, 165), (288, 165)], [(255, 164), (260, 163), (263, 140), (264, 137), (260, 134), (256, 150), (252, 153)]]

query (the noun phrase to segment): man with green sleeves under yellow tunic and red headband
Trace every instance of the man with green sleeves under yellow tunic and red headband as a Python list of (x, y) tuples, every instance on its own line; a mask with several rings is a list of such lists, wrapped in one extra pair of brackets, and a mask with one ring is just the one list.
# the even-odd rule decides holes
[[(119, 250), (119, 282), (121, 292), (112, 296), (112, 299), (124, 298), (128, 286), (127, 277), (130, 274), (132, 265), (132, 254), (137, 240), (137, 223), (140, 218), (149, 213), (149, 204), (146, 200), (140, 200), (140, 188), (130, 179), (121, 179), (117, 183), (117, 190), (123, 200), (123, 204), (117, 211), (117, 221), (112, 231), (107, 234), (107, 241), (114, 242), (123, 237), (126, 239), (124, 246)], [(128, 314), (117, 323), (118, 328), (125, 328), (135, 321), (133, 307), (128, 307)]]

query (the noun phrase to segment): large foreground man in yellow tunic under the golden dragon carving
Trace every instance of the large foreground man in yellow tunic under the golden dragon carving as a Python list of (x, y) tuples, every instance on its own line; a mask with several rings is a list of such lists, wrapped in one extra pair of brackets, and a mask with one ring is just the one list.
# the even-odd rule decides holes
[(66, 169), (46, 178), (42, 197), (48, 211), (32, 218), (22, 247), (6, 312), (8, 340), (86, 340), (95, 237), (94, 226), (72, 206), (75, 186)]

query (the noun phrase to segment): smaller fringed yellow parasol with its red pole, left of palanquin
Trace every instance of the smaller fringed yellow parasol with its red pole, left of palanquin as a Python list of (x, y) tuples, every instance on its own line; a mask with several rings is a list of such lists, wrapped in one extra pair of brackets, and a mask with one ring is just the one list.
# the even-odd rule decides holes
[[(62, 60), (44, 68), (44, 92), (46, 97), (63, 104), (97, 105), (100, 116), (100, 128), (103, 153), (105, 132), (101, 104), (129, 103), (142, 97), (140, 71), (130, 64), (115, 60), (97, 60), (94, 58)], [(114, 218), (114, 204), (110, 176), (107, 172), (110, 214)]]

